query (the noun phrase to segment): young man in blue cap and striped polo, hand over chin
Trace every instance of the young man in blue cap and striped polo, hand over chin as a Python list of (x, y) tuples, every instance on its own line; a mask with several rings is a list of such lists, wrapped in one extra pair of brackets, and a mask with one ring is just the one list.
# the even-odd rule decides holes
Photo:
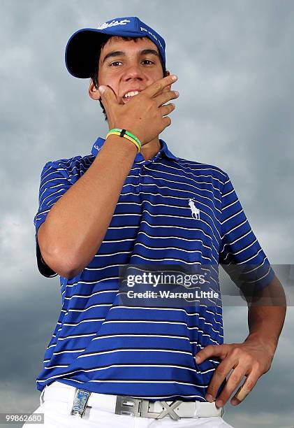
[(212, 306), (128, 306), (119, 300), (119, 268), (250, 261), (259, 292), (279, 288), (274, 271), (227, 173), (177, 157), (159, 139), (175, 108), (166, 103), (178, 94), (154, 29), (118, 17), (77, 31), (66, 66), (91, 78), (89, 96), (110, 134), (91, 155), (47, 162), (41, 173), (38, 269), (59, 274), (62, 308), (35, 413), (50, 427), (71, 427), (75, 416), (81, 427), (128, 426), (133, 417), (144, 427), (154, 418), (229, 427), (223, 406), (243, 376), (237, 402), (270, 368), (284, 309), (264, 310), (260, 322), (260, 308), (251, 308), (247, 339), (223, 344), (220, 298)]

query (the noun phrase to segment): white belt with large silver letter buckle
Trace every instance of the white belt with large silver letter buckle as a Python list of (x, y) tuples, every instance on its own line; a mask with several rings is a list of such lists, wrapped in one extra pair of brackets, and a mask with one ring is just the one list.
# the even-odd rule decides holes
[(180, 418), (211, 418), (222, 416), (223, 407), (216, 408), (215, 402), (202, 401), (149, 401), (148, 399), (135, 399), (124, 395), (98, 394), (82, 388), (55, 381), (46, 385), (40, 396), (43, 401), (61, 401), (73, 404), (70, 414), (82, 416), (86, 407), (99, 408), (118, 415), (133, 415), (142, 418), (161, 419), (169, 415), (172, 419)]

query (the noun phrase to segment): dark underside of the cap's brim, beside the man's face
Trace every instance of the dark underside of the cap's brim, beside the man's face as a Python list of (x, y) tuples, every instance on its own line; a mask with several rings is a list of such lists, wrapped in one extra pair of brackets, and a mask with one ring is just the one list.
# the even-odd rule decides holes
[(102, 40), (103, 34), (96, 29), (81, 29), (71, 36), (66, 45), (65, 62), (72, 76), (91, 77)]

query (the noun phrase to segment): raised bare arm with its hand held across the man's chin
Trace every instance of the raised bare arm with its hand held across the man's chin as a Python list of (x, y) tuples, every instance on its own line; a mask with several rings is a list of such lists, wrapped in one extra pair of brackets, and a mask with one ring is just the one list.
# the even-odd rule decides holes
[[(111, 87), (103, 87), (110, 129), (131, 130), (142, 145), (159, 136), (171, 123), (168, 113), (175, 104), (164, 103), (178, 97), (169, 90), (174, 82), (172, 76), (156, 80), (125, 105), (119, 104)], [(72, 278), (93, 259), (136, 153), (131, 141), (108, 136), (87, 172), (50, 209), (38, 231), (38, 243), (45, 263), (59, 275)]]

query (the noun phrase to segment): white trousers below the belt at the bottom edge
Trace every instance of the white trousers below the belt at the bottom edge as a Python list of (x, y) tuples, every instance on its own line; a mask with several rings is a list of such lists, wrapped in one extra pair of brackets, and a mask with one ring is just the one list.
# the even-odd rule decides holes
[[(54, 385), (58, 385), (58, 383), (54, 383)], [(70, 415), (72, 406), (72, 401), (46, 400), (43, 398), (43, 394), (41, 394), (40, 406), (34, 413), (44, 413), (42, 428), (233, 428), (220, 416), (172, 420), (167, 415), (161, 420), (155, 420), (154, 418), (138, 418), (133, 415), (117, 415), (116, 413), (96, 407), (87, 407), (84, 416), (79, 418)], [(37, 427), (38, 425), (34, 426)], [(22, 427), (28, 428), (33, 426), (29, 422), (26, 422)]]

